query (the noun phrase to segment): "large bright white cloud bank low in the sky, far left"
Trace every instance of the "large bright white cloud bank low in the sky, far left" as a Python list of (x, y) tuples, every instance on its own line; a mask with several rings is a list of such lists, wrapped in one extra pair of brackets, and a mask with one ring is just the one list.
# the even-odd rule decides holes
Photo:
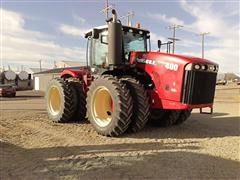
[[(1, 18), (1, 62), (36, 66), (39, 59), (50, 66), (49, 60), (76, 60), (85, 57), (85, 50), (78, 47), (63, 47), (48, 39), (48, 35), (27, 30), (20, 13), (0, 9)], [(24, 63), (24, 64), (23, 64)], [(52, 67), (52, 66), (50, 66)], [(49, 68), (50, 68), (49, 67)]]

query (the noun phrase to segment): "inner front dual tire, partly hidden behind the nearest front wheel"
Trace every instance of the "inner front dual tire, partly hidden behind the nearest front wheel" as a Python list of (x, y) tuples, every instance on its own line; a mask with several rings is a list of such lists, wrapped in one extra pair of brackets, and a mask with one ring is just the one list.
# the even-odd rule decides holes
[(150, 115), (149, 98), (139, 81), (129, 77), (121, 78), (121, 81), (126, 84), (133, 99), (133, 114), (128, 130), (130, 132), (138, 132), (144, 128)]

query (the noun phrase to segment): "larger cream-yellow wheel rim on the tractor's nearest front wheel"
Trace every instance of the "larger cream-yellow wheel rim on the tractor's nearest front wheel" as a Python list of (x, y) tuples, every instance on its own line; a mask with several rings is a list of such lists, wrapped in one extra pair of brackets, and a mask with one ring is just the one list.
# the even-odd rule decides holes
[(91, 112), (94, 121), (101, 127), (106, 127), (112, 120), (113, 100), (104, 86), (98, 87), (92, 97)]

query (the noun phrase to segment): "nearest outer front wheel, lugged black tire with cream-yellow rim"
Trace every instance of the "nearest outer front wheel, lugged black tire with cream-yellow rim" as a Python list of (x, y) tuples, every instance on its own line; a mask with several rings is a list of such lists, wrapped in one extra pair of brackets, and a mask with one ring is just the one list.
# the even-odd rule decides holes
[(87, 115), (99, 134), (123, 134), (132, 116), (132, 98), (126, 85), (113, 76), (97, 77), (87, 93)]

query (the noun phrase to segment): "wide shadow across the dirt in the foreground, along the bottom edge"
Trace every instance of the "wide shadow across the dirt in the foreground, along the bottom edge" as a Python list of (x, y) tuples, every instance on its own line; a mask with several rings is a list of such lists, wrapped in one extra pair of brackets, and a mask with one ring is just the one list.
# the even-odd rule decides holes
[[(196, 146), (135, 143), (24, 149), (1, 142), (1, 179), (237, 179), (236, 161)], [(183, 151), (185, 150), (185, 151)]]

